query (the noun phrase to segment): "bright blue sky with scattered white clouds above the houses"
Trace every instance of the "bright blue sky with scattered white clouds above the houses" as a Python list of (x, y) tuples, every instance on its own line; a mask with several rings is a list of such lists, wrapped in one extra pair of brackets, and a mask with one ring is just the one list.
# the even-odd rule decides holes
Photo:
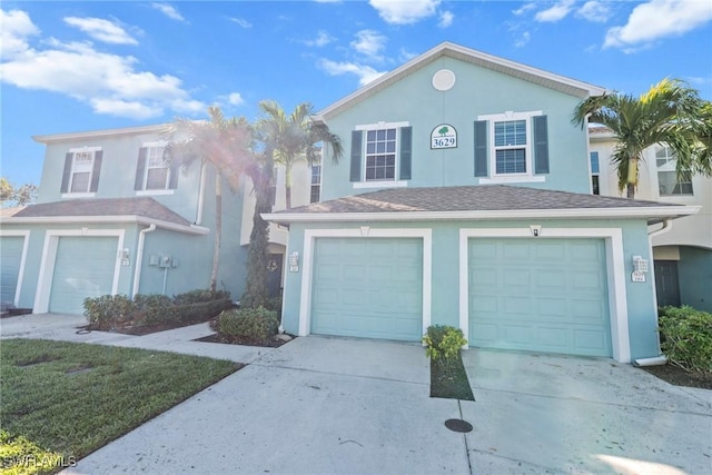
[(443, 41), (621, 92), (665, 77), (712, 100), (712, 2), (9, 1), (2, 176), (39, 185), (31, 136), (322, 109)]

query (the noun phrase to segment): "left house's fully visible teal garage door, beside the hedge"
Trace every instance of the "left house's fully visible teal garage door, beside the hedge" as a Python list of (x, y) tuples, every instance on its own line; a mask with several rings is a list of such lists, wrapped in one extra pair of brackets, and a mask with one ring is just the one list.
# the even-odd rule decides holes
[(59, 238), (49, 311), (83, 314), (83, 300), (111, 294), (118, 238)]

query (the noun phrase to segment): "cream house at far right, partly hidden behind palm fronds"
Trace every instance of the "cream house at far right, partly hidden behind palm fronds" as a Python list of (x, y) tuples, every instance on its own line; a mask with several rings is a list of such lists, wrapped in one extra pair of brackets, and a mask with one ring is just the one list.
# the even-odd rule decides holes
[[(590, 128), (593, 180), (601, 195), (621, 196), (611, 156), (617, 145), (604, 127)], [(636, 198), (700, 206), (700, 211), (651, 228), (657, 305), (690, 305), (712, 311), (712, 179), (678, 179), (670, 147), (643, 154)]]

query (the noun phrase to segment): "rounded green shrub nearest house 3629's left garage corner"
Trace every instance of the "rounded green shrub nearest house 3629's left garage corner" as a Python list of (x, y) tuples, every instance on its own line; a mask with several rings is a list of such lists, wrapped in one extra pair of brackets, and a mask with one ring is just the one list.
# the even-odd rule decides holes
[(215, 330), (233, 342), (248, 340), (263, 344), (277, 334), (278, 327), (277, 313), (260, 306), (221, 313)]

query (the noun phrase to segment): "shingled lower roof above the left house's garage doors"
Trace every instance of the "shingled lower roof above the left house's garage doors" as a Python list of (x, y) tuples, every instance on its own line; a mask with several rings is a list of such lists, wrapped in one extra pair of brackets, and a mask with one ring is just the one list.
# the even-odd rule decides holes
[[(3, 221), (68, 221), (68, 222), (140, 222), (188, 232), (205, 234), (208, 230), (192, 225), (150, 197), (136, 198), (77, 198), (62, 201), (30, 205), (3, 217)], [(116, 219), (112, 219), (116, 218)]]

